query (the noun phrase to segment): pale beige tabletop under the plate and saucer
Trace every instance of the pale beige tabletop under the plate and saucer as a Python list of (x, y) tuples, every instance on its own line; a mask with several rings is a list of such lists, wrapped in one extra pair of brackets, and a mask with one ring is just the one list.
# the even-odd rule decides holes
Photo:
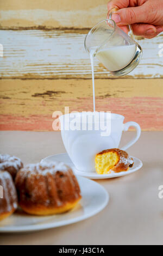
[[(126, 132), (122, 144), (133, 132)], [(13, 154), (24, 164), (64, 153), (60, 132), (0, 132), (1, 153)], [(96, 180), (110, 194), (99, 214), (76, 224), (24, 234), (0, 234), (0, 245), (134, 245), (163, 244), (163, 132), (142, 132), (128, 149), (143, 167), (120, 178)]]

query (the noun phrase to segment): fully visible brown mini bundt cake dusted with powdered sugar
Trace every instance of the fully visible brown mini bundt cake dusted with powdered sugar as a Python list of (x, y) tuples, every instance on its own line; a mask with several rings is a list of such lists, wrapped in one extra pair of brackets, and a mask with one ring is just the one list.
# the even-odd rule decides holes
[(62, 162), (28, 164), (16, 176), (18, 201), (33, 215), (71, 210), (82, 198), (72, 169)]

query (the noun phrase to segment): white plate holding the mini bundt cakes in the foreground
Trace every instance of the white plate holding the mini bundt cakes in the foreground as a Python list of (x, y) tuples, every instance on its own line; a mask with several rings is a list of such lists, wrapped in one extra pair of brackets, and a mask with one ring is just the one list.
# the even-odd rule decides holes
[(56, 228), (85, 220), (108, 204), (108, 192), (97, 182), (77, 177), (82, 192), (82, 200), (73, 210), (52, 216), (33, 216), (16, 212), (0, 222), (0, 233), (35, 231)]

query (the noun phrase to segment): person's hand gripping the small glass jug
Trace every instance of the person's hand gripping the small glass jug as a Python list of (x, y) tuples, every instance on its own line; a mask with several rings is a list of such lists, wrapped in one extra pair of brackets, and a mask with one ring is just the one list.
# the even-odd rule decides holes
[(126, 33), (128, 24), (135, 35), (145, 38), (163, 32), (163, 0), (111, 0), (108, 10), (112, 8), (120, 9), (114, 11), (112, 20)]

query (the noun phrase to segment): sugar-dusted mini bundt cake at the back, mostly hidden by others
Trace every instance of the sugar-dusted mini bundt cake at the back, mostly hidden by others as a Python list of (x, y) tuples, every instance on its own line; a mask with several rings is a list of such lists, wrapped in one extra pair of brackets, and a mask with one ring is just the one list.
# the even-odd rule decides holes
[(0, 170), (6, 170), (15, 179), (16, 173), (23, 167), (23, 163), (16, 156), (0, 154)]

